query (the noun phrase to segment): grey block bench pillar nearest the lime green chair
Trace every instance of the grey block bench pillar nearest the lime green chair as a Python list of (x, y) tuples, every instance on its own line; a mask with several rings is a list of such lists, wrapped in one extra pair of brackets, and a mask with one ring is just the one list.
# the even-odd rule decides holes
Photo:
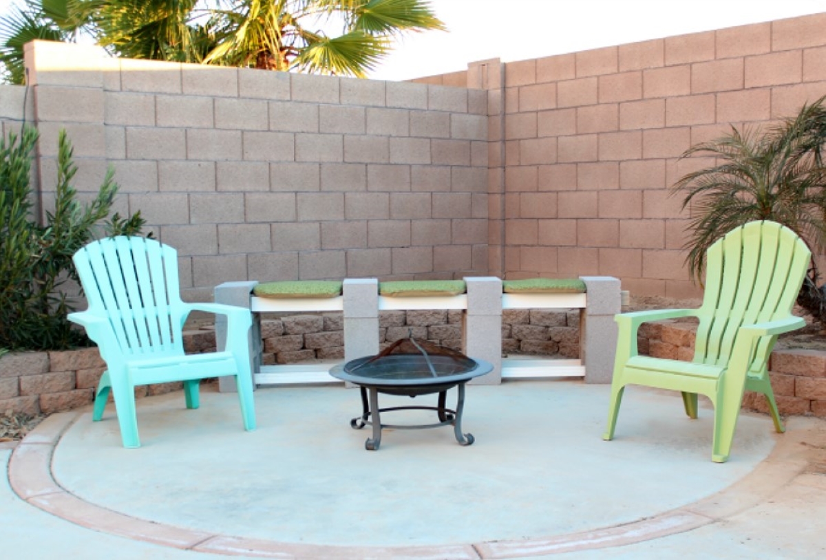
[(614, 375), (617, 325), (614, 316), (622, 308), (619, 279), (581, 276), (588, 306), (580, 311), (579, 348), (586, 383), (610, 383)]

